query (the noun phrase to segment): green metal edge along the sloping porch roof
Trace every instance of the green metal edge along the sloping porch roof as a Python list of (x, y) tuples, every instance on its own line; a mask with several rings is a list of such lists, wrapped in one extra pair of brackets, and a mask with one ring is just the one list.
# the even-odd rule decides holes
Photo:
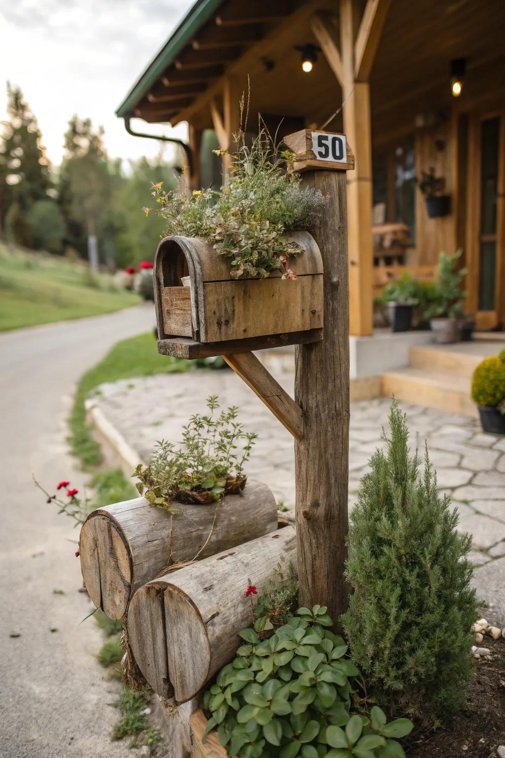
[(189, 9), (188, 14), (182, 19), (179, 26), (167, 39), (163, 48), (157, 54), (154, 61), (147, 67), (139, 80), (134, 84), (119, 108), (117, 116), (131, 115), (132, 109), (145, 96), (146, 92), (163, 74), (164, 70), (176, 58), (182, 48), (195, 36), (195, 33), (209, 20), (214, 11), (219, 8), (223, 0), (197, 0)]

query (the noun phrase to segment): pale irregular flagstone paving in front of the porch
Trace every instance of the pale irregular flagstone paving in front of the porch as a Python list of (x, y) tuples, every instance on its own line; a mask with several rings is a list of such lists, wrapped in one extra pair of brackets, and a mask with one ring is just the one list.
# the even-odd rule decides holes
[[(279, 363), (269, 366), (292, 393), (292, 371)], [(95, 397), (106, 417), (144, 460), (156, 440), (179, 440), (182, 424), (194, 412), (204, 412), (205, 398), (220, 396), (224, 406), (240, 408), (245, 428), (260, 434), (248, 473), (272, 488), (277, 499), (292, 507), (295, 500), (293, 440), (263, 403), (232, 371), (194, 371), (103, 384)], [(441, 491), (450, 494), (460, 512), (460, 530), (473, 536), (472, 562), (479, 595), (505, 625), (505, 439), (482, 434), (479, 423), (466, 416), (401, 403), (407, 412), (411, 444), (428, 441)], [(389, 400), (351, 404), (349, 445), (349, 506), (356, 500), (360, 477), (376, 447), (382, 446)]]

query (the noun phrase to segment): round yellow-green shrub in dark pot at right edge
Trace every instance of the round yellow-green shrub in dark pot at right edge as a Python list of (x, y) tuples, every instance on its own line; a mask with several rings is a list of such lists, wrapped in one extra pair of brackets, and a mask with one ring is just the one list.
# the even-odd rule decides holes
[(489, 434), (505, 434), (505, 348), (475, 368), (472, 399), (479, 408), (482, 429)]

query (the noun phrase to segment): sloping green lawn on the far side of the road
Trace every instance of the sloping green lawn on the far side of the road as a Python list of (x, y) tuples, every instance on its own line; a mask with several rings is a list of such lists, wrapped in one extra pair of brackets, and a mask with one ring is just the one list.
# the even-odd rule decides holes
[(83, 263), (0, 243), (0, 331), (110, 313), (141, 302)]

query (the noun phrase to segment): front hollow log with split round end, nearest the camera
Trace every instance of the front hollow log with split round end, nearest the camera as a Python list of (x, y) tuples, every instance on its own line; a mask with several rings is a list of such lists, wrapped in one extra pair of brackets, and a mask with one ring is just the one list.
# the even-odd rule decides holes
[(132, 598), (128, 636), (151, 688), (184, 703), (235, 655), (251, 626), (248, 578), (263, 586), (281, 557), (296, 561), (286, 526), (148, 582)]

